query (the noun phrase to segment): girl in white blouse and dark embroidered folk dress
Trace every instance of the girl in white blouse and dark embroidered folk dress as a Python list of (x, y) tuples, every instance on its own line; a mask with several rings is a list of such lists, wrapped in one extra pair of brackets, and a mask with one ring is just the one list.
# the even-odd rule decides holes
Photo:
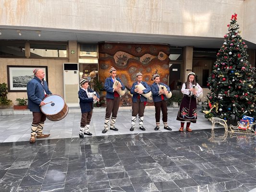
[(196, 98), (202, 94), (203, 89), (195, 82), (195, 73), (188, 73), (187, 82), (182, 85), (183, 99), (180, 105), (180, 110), (177, 115), (177, 120), (181, 121), (180, 132), (183, 132), (184, 123), (187, 121), (186, 131), (192, 132), (190, 123), (196, 123), (197, 109)]

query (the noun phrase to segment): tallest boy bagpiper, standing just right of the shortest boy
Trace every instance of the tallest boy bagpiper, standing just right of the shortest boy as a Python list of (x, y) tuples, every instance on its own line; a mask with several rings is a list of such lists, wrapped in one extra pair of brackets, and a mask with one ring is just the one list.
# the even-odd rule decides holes
[[(120, 95), (118, 94), (118, 91), (121, 89), (124, 90), (125, 86), (122, 84), (120, 78), (116, 78), (116, 69), (111, 68), (110, 69), (110, 77), (108, 77), (105, 80), (104, 88), (107, 92), (106, 99), (107, 99), (107, 107), (106, 107), (106, 115), (105, 115), (105, 123), (104, 123), (104, 129), (102, 133), (106, 133), (109, 129), (109, 123), (110, 123), (110, 130), (112, 131), (118, 131), (117, 128), (115, 128), (115, 122), (117, 117), (117, 112), (119, 109), (119, 102), (120, 102)], [(120, 84), (117, 85), (117, 87), (113, 88), (113, 84), (115, 81), (119, 81)], [(112, 114), (112, 116), (111, 116)], [(110, 116), (111, 116), (111, 122), (110, 122)]]

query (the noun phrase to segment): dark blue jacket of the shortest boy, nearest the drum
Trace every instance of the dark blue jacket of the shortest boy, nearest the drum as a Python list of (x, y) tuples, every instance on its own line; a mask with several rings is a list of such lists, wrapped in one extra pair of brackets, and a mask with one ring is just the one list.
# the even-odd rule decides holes
[[(89, 93), (93, 93), (94, 90), (92, 89), (87, 89)], [(97, 97), (99, 98), (98, 93), (96, 93)], [(82, 88), (79, 89), (78, 91), (78, 97), (79, 97), (79, 105), (81, 108), (82, 113), (87, 113), (90, 112), (93, 109), (93, 98), (88, 97), (86, 94), (86, 91)]]

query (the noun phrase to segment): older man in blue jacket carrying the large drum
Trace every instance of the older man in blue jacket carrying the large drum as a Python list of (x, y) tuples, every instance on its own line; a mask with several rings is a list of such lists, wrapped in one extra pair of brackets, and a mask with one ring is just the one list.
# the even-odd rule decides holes
[(33, 71), (34, 78), (27, 83), (28, 108), (33, 112), (33, 122), (31, 125), (30, 143), (36, 142), (36, 138), (46, 138), (50, 134), (43, 134), (46, 115), (40, 110), (40, 106), (45, 105), (42, 100), (52, 93), (48, 84), (44, 81), (45, 72), (42, 69)]

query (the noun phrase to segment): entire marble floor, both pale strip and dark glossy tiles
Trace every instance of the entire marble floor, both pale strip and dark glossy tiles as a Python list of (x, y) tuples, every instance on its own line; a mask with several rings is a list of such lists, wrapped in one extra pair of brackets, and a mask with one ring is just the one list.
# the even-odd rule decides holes
[[(130, 132), (129, 111), (120, 111), (120, 131), (102, 134), (104, 112), (95, 112), (92, 137), (78, 137), (79, 113), (47, 120), (47, 139), (29, 144), (31, 115), (0, 116), (0, 192), (249, 192), (256, 188), (255, 136), (212, 132), (199, 114), (193, 132)], [(137, 125), (137, 123), (136, 123)], [(137, 125), (138, 127), (138, 125)], [(131, 134), (133, 133), (133, 134)]]

